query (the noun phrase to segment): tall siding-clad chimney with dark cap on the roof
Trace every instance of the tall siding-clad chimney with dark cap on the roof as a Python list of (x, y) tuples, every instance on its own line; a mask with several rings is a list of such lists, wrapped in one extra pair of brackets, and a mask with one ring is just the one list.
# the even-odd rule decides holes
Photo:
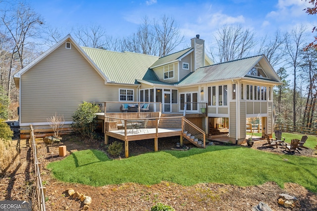
[(196, 35), (191, 39), (191, 47), (194, 49), (193, 69), (205, 66), (205, 40), (199, 39), (199, 35)]

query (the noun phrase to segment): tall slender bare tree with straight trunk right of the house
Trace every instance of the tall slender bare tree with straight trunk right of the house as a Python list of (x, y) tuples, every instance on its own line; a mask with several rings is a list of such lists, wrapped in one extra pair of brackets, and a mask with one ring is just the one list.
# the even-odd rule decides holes
[(293, 68), (294, 84), (293, 84), (293, 126), (296, 126), (296, 73), (297, 67), (301, 64), (303, 59), (300, 57), (301, 50), (304, 48), (303, 44), (306, 42), (305, 35), (306, 27), (295, 27), (290, 33), (285, 36), (285, 53), (288, 57), (287, 63)]

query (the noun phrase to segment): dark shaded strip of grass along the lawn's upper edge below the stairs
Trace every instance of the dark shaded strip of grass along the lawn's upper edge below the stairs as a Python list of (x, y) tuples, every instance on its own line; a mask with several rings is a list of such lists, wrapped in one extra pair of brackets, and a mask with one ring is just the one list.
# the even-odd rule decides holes
[(220, 150), (234, 150), (239, 149), (239, 146), (208, 146), (205, 149), (202, 148), (191, 148), (186, 151), (176, 151), (176, 150), (164, 150), (164, 152), (174, 156), (175, 158), (186, 158), (194, 155), (199, 155), (203, 153), (210, 153)]

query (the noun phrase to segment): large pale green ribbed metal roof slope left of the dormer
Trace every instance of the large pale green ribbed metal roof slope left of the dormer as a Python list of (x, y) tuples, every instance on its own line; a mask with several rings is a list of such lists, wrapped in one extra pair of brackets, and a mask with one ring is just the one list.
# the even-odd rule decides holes
[[(149, 67), (159, 59), (159, 56), (141, 53), (119, 53), (87, 47), (81, 48), (115, 83), (135, 84), (136, 79), (145, 77)], [(157, 77), (155, 74), (147, 75), (148, 78), (154, 76)]]

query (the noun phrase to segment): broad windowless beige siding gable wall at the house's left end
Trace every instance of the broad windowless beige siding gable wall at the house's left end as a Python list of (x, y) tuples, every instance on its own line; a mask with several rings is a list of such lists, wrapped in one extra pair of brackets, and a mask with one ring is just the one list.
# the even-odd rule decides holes
[(84, 101), (118, 101), (119, 88), (105, 85), (75, 48), (62, 44), (21, 75), (21, 123), (46, 123), (55, 112), (72, 121)]

